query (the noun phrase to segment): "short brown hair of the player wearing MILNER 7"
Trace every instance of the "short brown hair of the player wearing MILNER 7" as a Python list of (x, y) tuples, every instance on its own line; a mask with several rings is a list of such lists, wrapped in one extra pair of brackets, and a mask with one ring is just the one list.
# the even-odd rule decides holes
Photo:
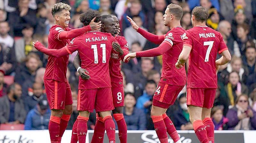
[(195, 16), (195, 20), (199, 22), (205, 22), (208, 18), (208, 12), (206, 8), (197, 6), (193, 9), (192, 15)]

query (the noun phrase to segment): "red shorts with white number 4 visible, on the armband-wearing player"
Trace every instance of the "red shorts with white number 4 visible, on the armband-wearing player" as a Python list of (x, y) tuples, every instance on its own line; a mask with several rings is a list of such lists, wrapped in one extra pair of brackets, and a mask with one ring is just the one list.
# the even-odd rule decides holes
[(153, 97), (153, 105), (164, 109), (169, 108), (174, 104), (183, 87), (159, 82)]

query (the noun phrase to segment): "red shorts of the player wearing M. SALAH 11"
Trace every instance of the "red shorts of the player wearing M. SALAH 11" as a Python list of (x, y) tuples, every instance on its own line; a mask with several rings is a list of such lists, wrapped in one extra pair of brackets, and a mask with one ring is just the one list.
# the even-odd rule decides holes
[(111, 111), (114, 109), (111, 88), (79, 89), (77, 110), (96, 112)]

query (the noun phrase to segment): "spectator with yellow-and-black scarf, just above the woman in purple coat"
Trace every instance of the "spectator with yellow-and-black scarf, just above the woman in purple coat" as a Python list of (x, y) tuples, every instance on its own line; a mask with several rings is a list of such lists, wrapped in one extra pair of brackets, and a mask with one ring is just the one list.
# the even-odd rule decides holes
[(225, 86), (227, 92), (228, 103), (231, 106), (235, 106), (235, 101), (237, 97), (242, 94), (248, 95), (249, 90), (244, 83), (239, 82), (239, 75), (237, 72), (233, 71), (229, 74), (229, 82)]

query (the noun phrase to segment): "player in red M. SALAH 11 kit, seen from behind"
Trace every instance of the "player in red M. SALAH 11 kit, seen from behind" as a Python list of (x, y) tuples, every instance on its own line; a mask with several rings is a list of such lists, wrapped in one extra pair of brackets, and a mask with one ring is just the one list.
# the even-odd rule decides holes
[[(80, 21), (84, 26), (96, 17), (98, 21), (100, 14), (98, 11), (87, 10), (80, 15)], [(115, 21), (112, 17), (108, 19), (110, 28), (116, 29)], [(70, 41), (70, 44), (61, 49), (47, 49), (40, 42), (35, 43), (35, 47), (54, 57), (62, 57), (78, 50), (81, 58), (81, 67), (90, 73), (90, 80), (83, 80), (79, 77), (78, 85), (78, 124), (77, 136), (79, 143), (85, 143), (87, 134), (87, 121), (93, 109), (99, 112), (103, 118), (104, 127), (107, 131), (110, 143), (115, 143), (115, 124), (111, 116), (114, 109), (111, 82), (109, 75), (109, 60), (112, 50), (112, 42), (115, 39), (110, 33), (90, 31)]]

